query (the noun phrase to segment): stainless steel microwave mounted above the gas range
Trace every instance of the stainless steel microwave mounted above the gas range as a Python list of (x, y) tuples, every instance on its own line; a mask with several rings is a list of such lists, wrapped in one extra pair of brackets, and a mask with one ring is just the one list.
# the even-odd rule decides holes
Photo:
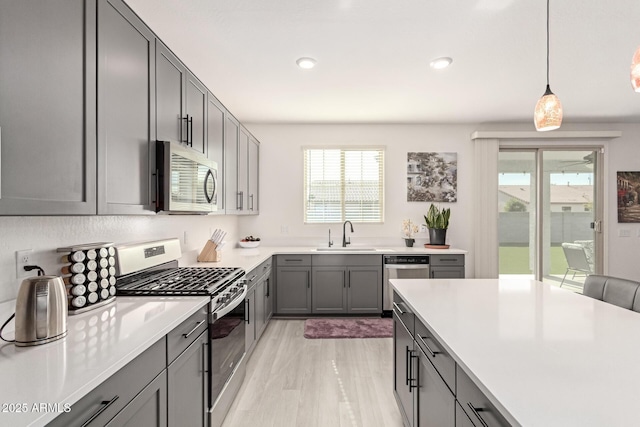
[(156, 212), (210, 214), (218, 210), (218, 164), (197, 151), (156, 141)]

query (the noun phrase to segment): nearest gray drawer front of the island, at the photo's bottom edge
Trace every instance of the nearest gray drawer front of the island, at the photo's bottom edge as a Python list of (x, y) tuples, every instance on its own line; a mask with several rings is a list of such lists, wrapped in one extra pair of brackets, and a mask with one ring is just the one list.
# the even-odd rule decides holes
[(459, 366), (456, 367), (456, 383), (458, 403), (473, 424), (489, 427), (508, 427), (510, 425)]

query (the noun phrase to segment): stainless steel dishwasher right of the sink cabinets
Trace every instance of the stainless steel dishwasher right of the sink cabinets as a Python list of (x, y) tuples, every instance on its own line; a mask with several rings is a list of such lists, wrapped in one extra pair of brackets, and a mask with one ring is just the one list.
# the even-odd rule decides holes
[(382, 310), (385, 317), (391, 317), (393, 295), (391, 279), (428, 279), (429, 255), (385, 255), (384, 278), (382, 283)]

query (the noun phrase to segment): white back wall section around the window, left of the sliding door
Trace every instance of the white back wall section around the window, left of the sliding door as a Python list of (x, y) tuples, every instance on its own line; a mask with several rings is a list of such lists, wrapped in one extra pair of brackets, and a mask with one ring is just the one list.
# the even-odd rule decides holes
[[(335, 244), (342, 239), (341, 224), (303, 223), (303, 153), (312, 145), (386, 146), (384, 224), (355, 224), (352, 244), (404, 245), (404, 219), (424, 223), (427, 202), (407, 202), (407, 152), (458, 153), (458, 202), (451, 207), (448, 243), (470, 250), (473, 243), (472, 191), (473, 125), (264, 125), (248, 128), (261, 141), (260, 215), (243, 217), (243, 233), (259, 235), (270, 244), (327, 245), (328, 229)], [(288, 232), (282, 232), (282, 228)], [(426, 237), (426, 236), (425, 236)], [(417, 244), (424, 243), (424, 239)], [(467, 265), (473, 265), (469, 253)], [(467, 268), (469, 274), (471, 271)]]

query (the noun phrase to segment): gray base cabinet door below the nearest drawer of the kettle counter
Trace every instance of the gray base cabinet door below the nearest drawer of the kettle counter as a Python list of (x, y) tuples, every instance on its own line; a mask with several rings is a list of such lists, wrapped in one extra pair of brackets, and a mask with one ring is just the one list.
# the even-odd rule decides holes
[(135, 399), (106, 424), (107, 427), (166, 427), (166, 425), (167, 371), (162, 371)]

